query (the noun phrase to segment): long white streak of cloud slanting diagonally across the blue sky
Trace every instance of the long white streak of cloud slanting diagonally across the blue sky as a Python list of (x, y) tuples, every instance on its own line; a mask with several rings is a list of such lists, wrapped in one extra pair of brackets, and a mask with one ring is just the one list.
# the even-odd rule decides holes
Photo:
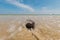
[(18, 2), (17, 0), (6, 0), (6, 1), (8, 3), (16, 5), (18, 7), (25, 8), (25, 9), (29, 10), (30, 12), (34, 12), (34, 9), (32, 7), (25, 5), (25, 4), (22, 4), (22, 3)]

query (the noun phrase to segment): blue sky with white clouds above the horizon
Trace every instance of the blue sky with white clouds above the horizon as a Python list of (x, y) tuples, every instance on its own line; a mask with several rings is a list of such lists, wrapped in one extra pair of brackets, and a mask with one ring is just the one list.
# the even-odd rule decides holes
[(60, 0), (0, 0), (0, 14), (60, 14)]

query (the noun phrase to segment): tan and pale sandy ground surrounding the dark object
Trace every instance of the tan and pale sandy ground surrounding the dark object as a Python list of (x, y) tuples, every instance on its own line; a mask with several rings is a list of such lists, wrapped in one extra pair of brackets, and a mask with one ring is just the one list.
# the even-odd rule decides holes
[[(25, 27), (27, 19), (34, 30)], [(60, 16), (0, 15), (0, 40), (60, 40)]]

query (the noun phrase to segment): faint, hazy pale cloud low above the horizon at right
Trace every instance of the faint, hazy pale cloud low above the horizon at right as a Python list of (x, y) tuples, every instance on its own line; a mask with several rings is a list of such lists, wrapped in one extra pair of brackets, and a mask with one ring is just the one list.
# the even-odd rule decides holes
[(37, 11), (38, 14), (60, 14), (58, 9), (49, 9), (48, 7), (42, 7), (41, 10)]

